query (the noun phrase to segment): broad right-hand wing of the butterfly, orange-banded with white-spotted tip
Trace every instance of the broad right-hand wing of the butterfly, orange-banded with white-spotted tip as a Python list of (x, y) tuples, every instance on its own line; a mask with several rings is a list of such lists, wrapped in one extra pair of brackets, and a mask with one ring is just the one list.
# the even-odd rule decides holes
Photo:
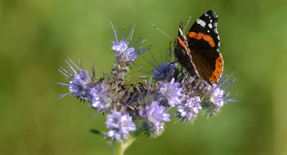
[(218, 17), (213, 11), (200, 16), (190, 28), (186, 40), (191, 61), (199, 73), (199, 80), (217, 83), (223, 72), (223, 58), (218, 51)]

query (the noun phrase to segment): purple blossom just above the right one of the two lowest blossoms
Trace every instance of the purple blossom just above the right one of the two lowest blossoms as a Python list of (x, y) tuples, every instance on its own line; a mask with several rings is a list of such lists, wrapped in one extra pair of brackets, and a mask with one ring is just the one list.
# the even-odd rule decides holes
[(170, 107), (180, 104), (180, 99), (182, 95), (182, 88), (180, 88), (180, 83), (174, 82), (174, 78), (171, 79), (170, 82), (164, 80), (160, 82), (159, 88), (159, 100), (167, 101)]

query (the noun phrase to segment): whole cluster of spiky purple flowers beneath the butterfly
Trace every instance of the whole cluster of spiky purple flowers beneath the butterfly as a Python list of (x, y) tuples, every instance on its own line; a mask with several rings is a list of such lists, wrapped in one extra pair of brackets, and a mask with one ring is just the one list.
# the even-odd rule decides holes
[[(96, 114), (105, 114), (108, 131), (103, 135), (111, 142), (125, 141), (135, 130), (143, 131), (148, 137), (157, 137), (171, 116), (184, 123), (193, 122), (199, 115), (214, 116), (224, 103), (236, 101), (226, 90), (235, 79), (228, 81), (230, 76), (223, 74), (217, 84), (201, 82), (176, 68), (176, 63), (171, 62), (172, 50), (168, 50), (165, 62), (150, 63), (154, 67), (149, 72), (153, 75), (151, 80), (140, 76), (137, 83), (129, 82), (130, 66), (150, 46), (141, 48), (142, 39), (131, 45), (133, 29), (127, 38), (123, 33), (121, 40), (116, 27), (113, 33), (111, 49), (115, 60), (111, 74), (104, 73), (103, 77), (96, 78), (93, 67), (89, 76), (81, 62), (77, 66), (69, 59), (64, 63), (66, 69), (59, 69), (69, 82), (58, 83), (69, 87), (69, 92), (61, 97), (72, 94), (88, 101)], [(171, 114), (171, 110), (176, 112)]]

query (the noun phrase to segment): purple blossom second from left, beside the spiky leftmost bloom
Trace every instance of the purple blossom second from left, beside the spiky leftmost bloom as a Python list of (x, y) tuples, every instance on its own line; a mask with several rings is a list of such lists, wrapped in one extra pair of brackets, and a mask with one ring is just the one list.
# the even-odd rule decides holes
[(109, 103), (110, 90), (100, 83), (89, 88), (87, 96), (88, 100), (91, 101), (91, 106), (98, 111), (99, 109), (105, 109)]

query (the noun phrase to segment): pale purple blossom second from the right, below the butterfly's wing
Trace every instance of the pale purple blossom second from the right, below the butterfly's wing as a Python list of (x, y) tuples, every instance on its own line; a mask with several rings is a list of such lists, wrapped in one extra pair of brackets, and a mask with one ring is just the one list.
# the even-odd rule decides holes
[(200, 103), (199, 96), (193, 98), (186, 98), (185, 102), (186, 102), (185, 104), (178, 105), (177, 110), (180, 113), (181, 116), (180, 119), (185, 117), (186, 119), (184, 122), (188, 122), (195, 117), (195, 115), (198, 113), (198, 110), (202, 109), (202, 107), (199, 104)]

